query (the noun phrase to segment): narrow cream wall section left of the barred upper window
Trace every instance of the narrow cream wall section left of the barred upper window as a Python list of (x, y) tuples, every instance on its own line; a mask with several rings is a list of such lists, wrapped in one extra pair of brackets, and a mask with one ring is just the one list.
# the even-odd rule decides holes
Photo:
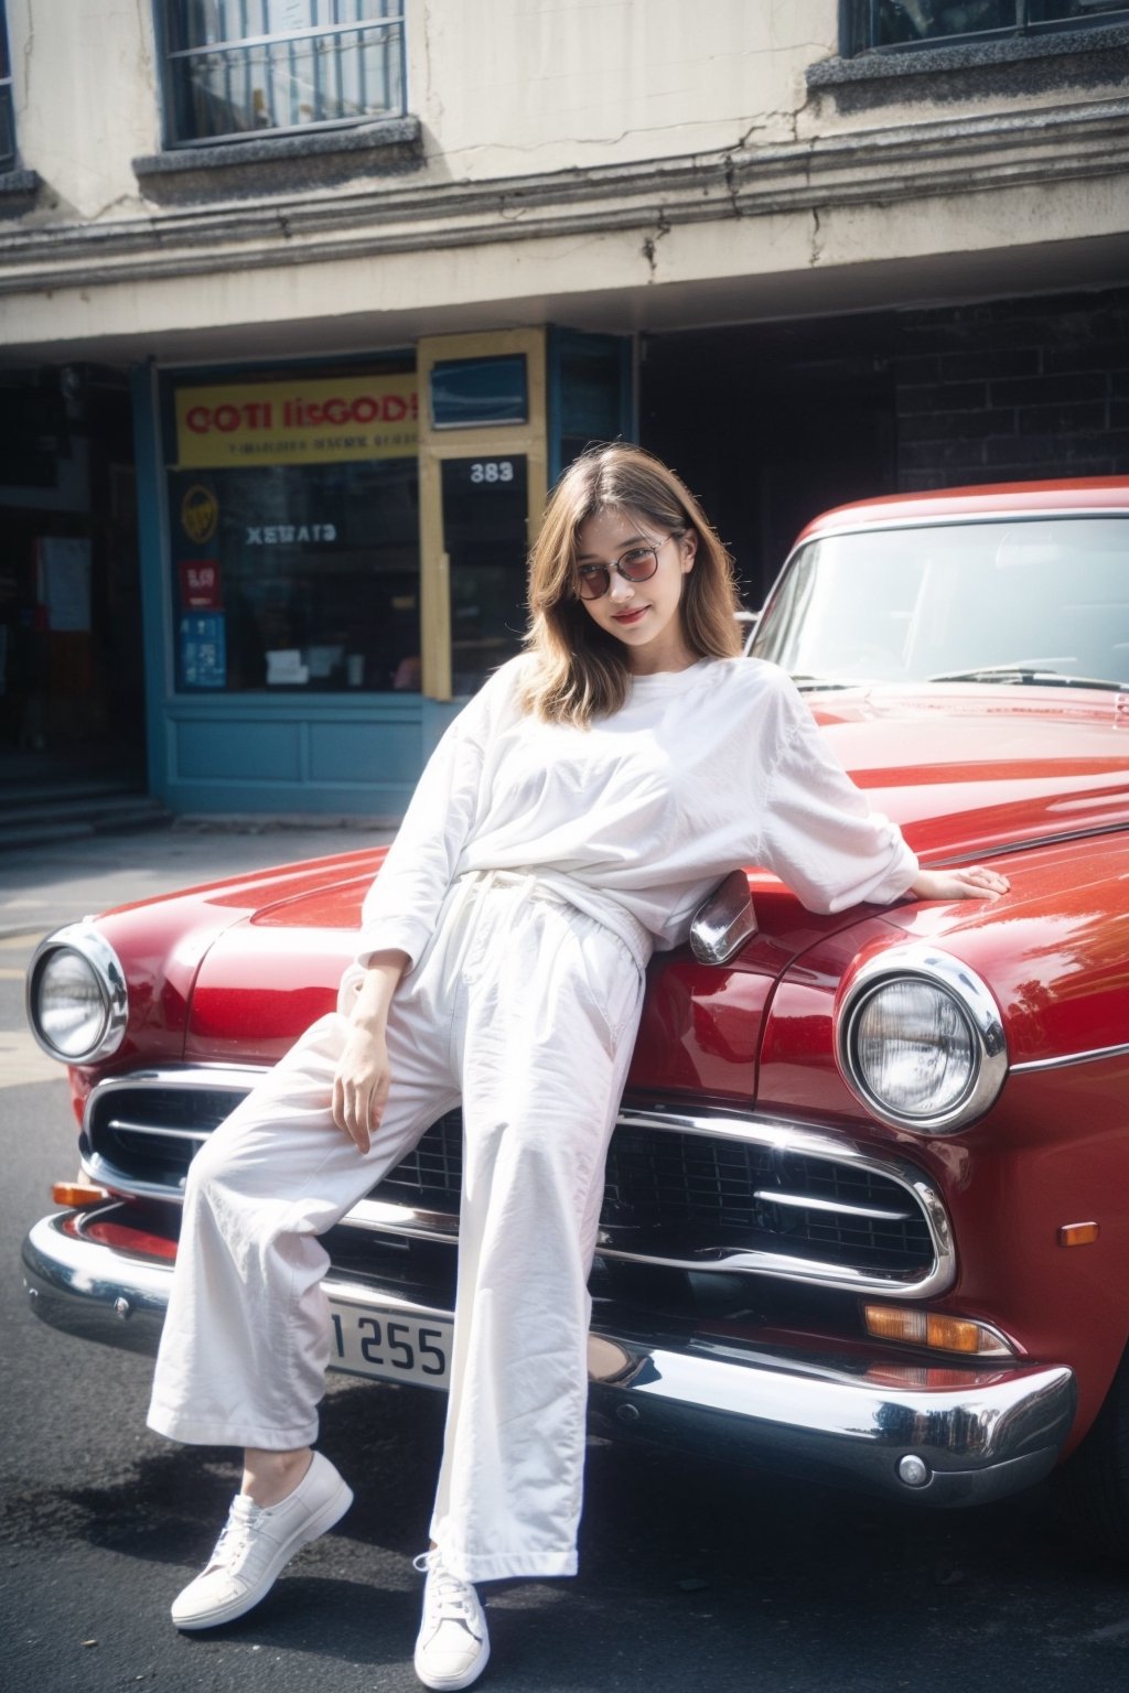
[(147, 0), (8, 0), (19, 163), (42, 178), (39, 217), (140, 210), (130, 161), (159, 147)]

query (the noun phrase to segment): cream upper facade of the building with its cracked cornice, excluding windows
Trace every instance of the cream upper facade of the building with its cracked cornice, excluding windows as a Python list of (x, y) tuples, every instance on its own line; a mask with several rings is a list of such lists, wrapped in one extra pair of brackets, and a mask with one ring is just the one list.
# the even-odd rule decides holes
[(812, 135), (804, 73), (834, 51), (836, 0), (406, 15), (421, 169), (339, 193), (283, 161), (257, 201), (164, 208), (132, 171), (159, 147), (152, 0), (8, 0), (20, 164), (44, 191), (0, 225), (0, 345), (195, 357), (229, 335), (273, 356), (518, 322), (740, 322), (1049, 288), (1053, 267), (1078, 286), (1087, 245), (1109, 266), (1124, 239), (1129, 107), (1092, 91), (1087, 122), (1073, 98), (997, 100), (987, 122), (885, 107), (863, 135), (824, 100)]

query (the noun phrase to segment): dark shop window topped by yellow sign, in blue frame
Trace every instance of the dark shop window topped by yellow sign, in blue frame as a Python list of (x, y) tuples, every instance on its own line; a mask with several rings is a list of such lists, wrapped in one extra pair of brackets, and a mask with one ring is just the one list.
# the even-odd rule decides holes
[(415, 372), (179, 379), (164, 427), (178, 691), (418, 692)]

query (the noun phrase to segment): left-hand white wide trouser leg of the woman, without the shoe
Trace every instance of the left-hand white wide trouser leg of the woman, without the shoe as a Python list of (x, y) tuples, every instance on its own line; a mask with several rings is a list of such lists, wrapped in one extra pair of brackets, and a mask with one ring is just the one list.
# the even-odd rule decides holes
[(317, 1236), (457, 1100), (405, 995), (389, 1017), (388, 1107), (361, 1156), (330, 1114), (344, 1033), (337, 1012), (306, 1029), (193, 1160), (149, 1409), (171, 1439), (279, 1454), (317, 1439), (328, 1361)]

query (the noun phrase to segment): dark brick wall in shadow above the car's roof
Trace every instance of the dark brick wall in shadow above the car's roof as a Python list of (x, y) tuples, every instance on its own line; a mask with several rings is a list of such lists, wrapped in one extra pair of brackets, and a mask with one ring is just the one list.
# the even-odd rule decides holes
[(1129, 288), (899, 313), (897, 484), (1129, 472)]

